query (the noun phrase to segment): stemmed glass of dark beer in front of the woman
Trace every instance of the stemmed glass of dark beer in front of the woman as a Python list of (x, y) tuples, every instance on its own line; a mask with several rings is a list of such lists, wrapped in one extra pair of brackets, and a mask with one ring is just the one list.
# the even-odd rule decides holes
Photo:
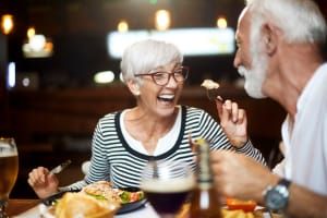
[(194, 189), (195, 180), (185, 162), (150, 160), (140, 186), (161, 218), (173, 218)]

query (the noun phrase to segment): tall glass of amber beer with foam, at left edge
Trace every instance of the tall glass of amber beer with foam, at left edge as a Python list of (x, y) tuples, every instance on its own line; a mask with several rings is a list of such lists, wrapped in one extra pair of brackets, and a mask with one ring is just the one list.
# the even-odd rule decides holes
[(0, 218), (7, 218), (5, 207), (19, 174), (19, 153), (14, 138), (0, 137)]

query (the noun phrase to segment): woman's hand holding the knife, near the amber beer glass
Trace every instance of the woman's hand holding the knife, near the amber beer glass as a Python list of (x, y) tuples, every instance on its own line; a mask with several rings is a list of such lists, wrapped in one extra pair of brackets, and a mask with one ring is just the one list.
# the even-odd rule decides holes
[(44, 167), (33, 169), (28, 173), (28, 184), (39, 198), (46, 198), (58, 192), (58, 179)]

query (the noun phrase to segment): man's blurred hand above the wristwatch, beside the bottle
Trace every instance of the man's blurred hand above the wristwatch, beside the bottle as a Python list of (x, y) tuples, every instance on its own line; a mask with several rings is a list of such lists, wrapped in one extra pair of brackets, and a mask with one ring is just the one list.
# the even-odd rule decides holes
[(228, 150), (210, 154), (214, 182), (221, 197), (253, 199), (264, 204), (263, 191), (278, 177), (251, 157)]

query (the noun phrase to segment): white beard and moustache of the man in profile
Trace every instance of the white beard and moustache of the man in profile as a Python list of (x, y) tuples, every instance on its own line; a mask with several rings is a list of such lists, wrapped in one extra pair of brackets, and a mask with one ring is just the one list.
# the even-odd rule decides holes
[(253, 98), (265, 98), (263, 94), (263, 84), (266, 80), (267, 59), (264, 53), (257, 51), (253, 56), (252, 69), (246, 70), (245, 66), (240, 65), (238, 71), (240, 75), (245, 77), (244, 88), (249, 96)]

